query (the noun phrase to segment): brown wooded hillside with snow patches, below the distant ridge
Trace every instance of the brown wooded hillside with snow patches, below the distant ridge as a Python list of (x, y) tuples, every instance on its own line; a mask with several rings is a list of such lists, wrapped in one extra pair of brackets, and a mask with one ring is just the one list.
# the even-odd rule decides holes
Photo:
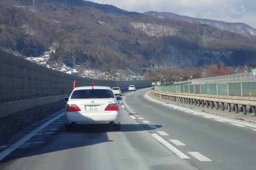
[(2, 0), (0, 11), (0, 46), (34, 57), (52, 50), (48, 63), (55, 67), (139, 75), (142, 67), (256, 63), (255, 38), (198, 22), (83, 0)]

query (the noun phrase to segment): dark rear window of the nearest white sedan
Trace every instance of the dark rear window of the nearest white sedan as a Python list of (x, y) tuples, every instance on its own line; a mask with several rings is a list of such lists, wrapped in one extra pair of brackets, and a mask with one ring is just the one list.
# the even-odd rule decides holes
[(75, 90), (70, 97), (71, 99), (92, 99), (92, 98), (115, 98), (113, 92), (108, 89), (84, 89)]

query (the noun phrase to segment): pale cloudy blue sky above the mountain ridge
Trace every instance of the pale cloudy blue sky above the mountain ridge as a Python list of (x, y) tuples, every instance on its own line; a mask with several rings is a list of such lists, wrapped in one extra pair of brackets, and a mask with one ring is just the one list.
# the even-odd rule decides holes
[(194, 18), (242, 22), (256, 28), (255, 0), (90, 0), (131, 12), (172, 12)]

